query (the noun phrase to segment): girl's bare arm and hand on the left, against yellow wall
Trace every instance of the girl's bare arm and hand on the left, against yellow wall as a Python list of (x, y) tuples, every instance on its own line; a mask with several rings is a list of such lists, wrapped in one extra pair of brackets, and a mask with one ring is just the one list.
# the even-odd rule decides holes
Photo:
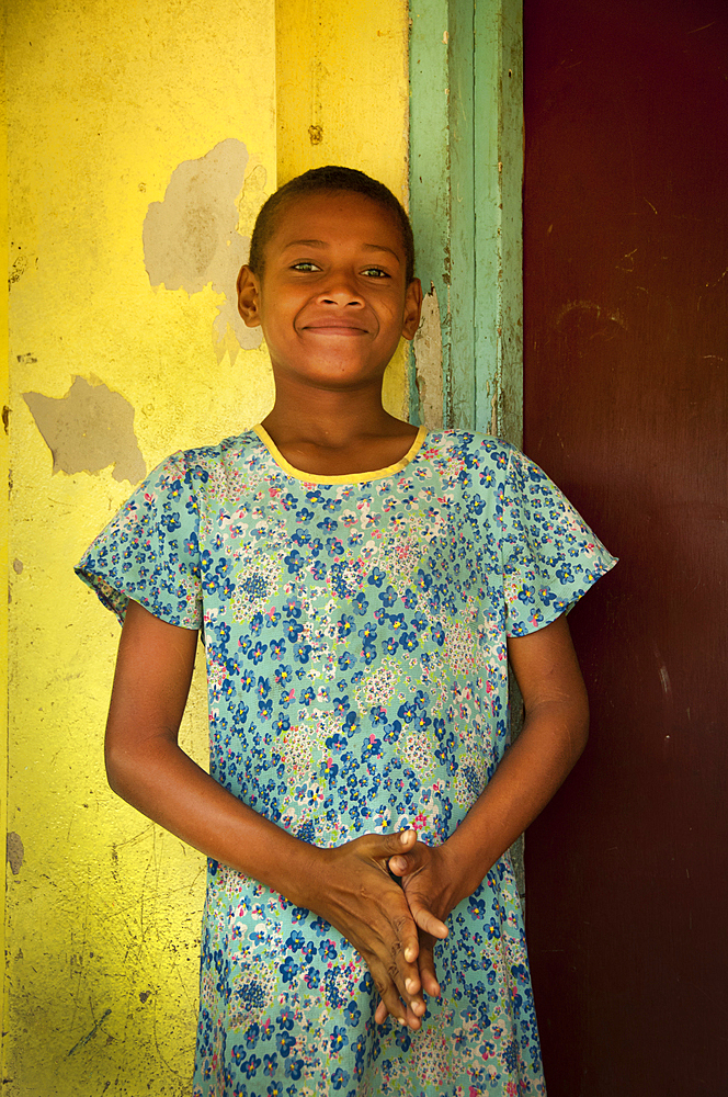
[(191, 846), (325, 917), (364, 957), (387, 1010), (419, 1028), (417, 927), (387, 871), (388, 858), (414, 836), (367, 835), (318, 849), (202, 770), (178, 744), (196, 643), (196, 632), (129, 602), (106, 725), (112, 789)]

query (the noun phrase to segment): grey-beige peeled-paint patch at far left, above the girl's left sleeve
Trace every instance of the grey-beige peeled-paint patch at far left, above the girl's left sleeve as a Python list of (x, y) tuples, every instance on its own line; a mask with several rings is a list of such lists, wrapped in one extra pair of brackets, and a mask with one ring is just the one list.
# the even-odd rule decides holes
[(23, 393), (35, 425), (53, 453), (53, 471), (99, 473), (114, 465), (113, 477), (137, 484), (147, 472), (134, 433), (134, 408), (106, 385), (83, 377), (60, 399)]

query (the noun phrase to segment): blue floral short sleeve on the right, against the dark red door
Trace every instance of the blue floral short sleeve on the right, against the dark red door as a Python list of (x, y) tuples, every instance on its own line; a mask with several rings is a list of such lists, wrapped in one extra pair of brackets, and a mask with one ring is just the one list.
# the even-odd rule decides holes
[(505, 630), (525, 636), (560, 617), (616, 558), (546, 473), (509, 449), (498, 508)]

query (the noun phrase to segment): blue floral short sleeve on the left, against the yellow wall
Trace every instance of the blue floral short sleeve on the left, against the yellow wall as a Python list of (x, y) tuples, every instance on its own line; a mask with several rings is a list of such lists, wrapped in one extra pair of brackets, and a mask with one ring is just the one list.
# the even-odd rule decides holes
[(168, 457), (83, 554), (76, 574), (120, 622), (133, 599), (169, 624), (201, 626), (197, 489), (206, 477), (184, 454)]

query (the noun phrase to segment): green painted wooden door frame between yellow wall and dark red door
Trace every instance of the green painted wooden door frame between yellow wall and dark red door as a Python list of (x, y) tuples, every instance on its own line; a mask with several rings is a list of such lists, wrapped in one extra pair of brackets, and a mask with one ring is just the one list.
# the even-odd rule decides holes
[(410, 213), (430, 291), (410, 412), (516, 445), (522, 46), (522, 0), (410, 0)]

